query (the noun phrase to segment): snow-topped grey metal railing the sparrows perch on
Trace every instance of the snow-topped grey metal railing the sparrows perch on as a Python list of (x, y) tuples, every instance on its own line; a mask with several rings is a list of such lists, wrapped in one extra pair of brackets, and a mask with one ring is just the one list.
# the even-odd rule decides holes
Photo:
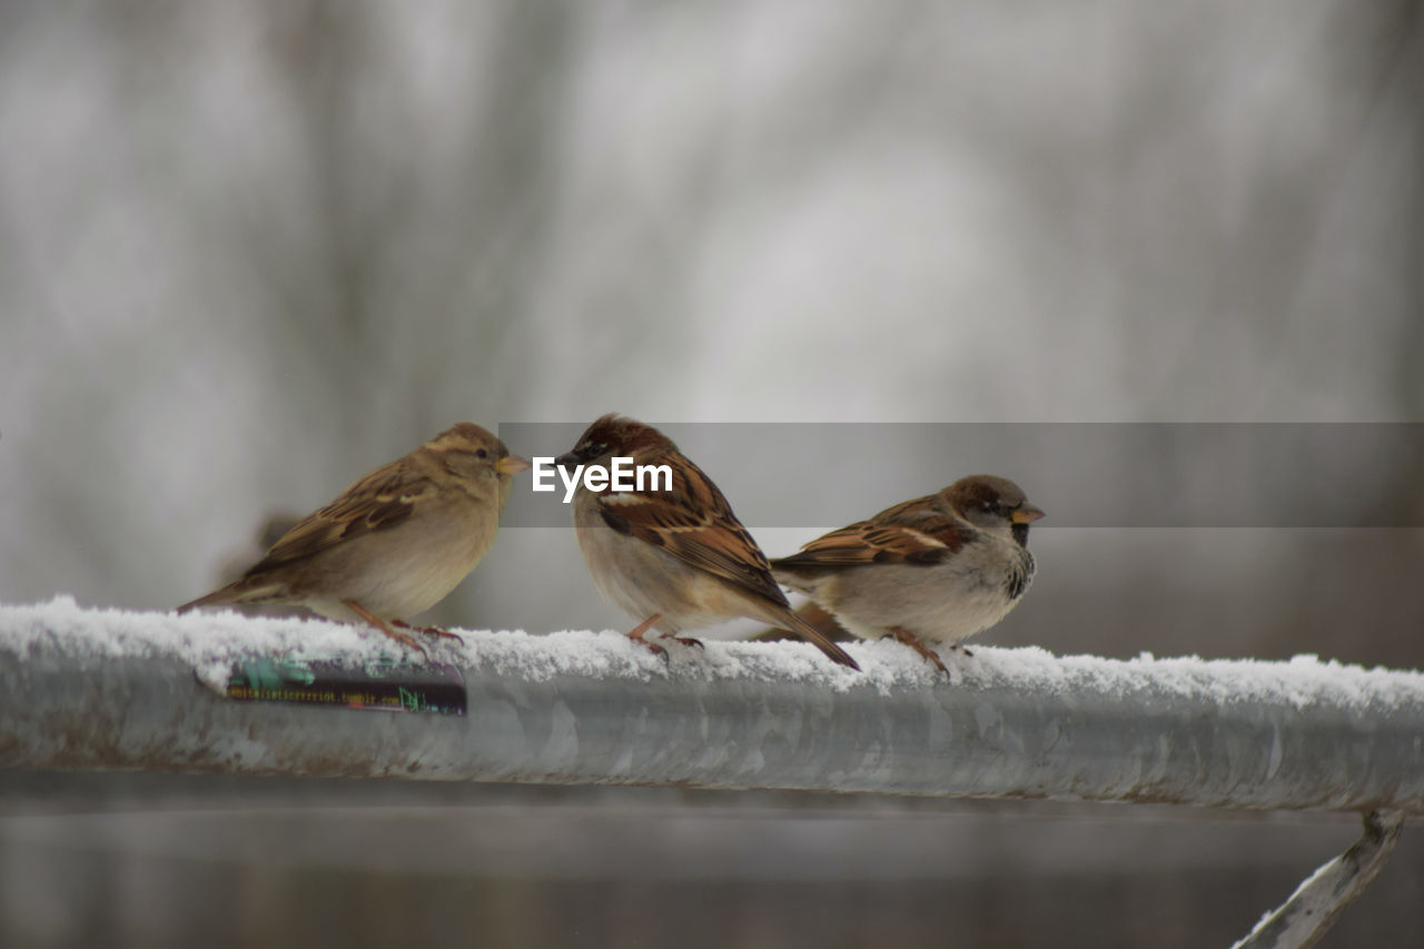
[[(320, 621), (0, 607), (0, 767), (1424, 811), (1413, 671), (974, 645), (946, 677), (897, 643), (852, 644), (856, 673), (800, 643), (460, 636), (424, 660)], [(1368, 879), (1341, 872), (1336, 912)]]

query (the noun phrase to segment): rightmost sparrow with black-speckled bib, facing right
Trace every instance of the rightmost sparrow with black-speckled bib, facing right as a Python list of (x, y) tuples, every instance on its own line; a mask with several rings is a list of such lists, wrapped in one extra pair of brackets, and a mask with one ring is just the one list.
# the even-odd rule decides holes
[(956, 645), (1002, 620), (1034, 579), (1028, 526), (1044, 516), (1012, 482), (964, 477), (772, 561), (782, 584), (863, 638), (893, 636), (947, 671), (926, 645)]

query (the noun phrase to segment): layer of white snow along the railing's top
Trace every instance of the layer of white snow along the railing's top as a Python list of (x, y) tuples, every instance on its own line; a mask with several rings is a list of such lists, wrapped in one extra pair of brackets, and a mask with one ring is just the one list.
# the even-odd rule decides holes
[[(943, 675), (899, 643), (852, 643), (847, 651), (863, 671), (834, 665), (805, 643), (726, 643), (705, 648), (666, 643), (668, 661), (621, 631), (451, 630), (464, 643), (431, 641), (430, 657), (460, 667), (534, 681), (555, 675), (684, 680), (800, 681), (846, 691), (870, 685), (881, 694), (926, 688)], [(1219, 704), (1260, 701), (1306, 708), (1317, 702), (1376, 710), (1424, 705), (1424, 674), (1367, 670), (1314, 655), (1286, 663), (1257, 660), (1054, 655), (1042, 648), (971, 644), (973, 657), (946, 650), (950, 684), (975, 690), (1028, 690), (1045, 694), (1126, 695), (1146, 691)], [(404, 657), (410, 651), (375, 630), (325, 620), (246, 617), (234, 611), (138, 613), (78, 606), (57, 596), (34, 606), (0, 604), (0, 657), (66, 655), (103, 661), (117, 657), (178, 657), (214, 685), (226, 681), (241, 657), (292, 655), (352, 663)], [(419, 660), (419, 655), (410, 655)], [(0, 661), (4, 661), (0, 658)]]

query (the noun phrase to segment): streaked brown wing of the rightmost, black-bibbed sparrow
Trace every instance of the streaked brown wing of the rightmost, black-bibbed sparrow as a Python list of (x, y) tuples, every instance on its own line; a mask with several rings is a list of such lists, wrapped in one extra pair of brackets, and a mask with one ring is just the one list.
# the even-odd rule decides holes
[(778, 567), (840, 567), (866, 563), (928, 566), (943, 561), (974, 536), (968, 524), (936, 507), (936, 496), (916, 497), (823, 534)]

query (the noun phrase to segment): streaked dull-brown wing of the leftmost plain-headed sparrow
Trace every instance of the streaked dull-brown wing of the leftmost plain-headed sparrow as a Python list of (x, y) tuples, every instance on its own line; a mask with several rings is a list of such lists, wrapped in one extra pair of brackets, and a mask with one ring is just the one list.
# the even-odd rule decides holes
[(430, 480), (406, 459), (377, 467), (282, 534), (245, 577), (312, 557), (362, 534), (389, 530), (410, 517), (416, 500), (431, 490)]

